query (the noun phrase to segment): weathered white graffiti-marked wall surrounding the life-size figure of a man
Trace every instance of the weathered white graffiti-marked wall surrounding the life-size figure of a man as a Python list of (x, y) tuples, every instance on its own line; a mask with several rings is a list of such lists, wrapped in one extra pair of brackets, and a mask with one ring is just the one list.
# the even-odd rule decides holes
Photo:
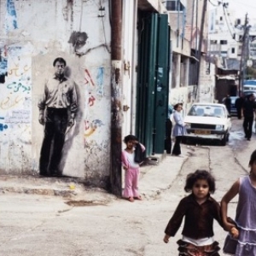
[(44, 127), (38, 97), (56, 57), (77, 84), (79, 113), (67, 132), (63, 174), (108, 177), (108, 0), (4, 0), (0, 6), (0, 174), (38, 173)]

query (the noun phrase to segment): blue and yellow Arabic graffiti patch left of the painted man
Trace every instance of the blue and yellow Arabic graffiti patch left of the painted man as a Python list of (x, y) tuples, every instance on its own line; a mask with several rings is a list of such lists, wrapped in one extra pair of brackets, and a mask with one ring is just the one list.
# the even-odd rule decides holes
[[(1, 50), (0, 74), (0, 131), (11, 132), (12, 137), (30, 142), (32, 120), (32, 60), (20, 45), (4, 46)], [(26, 131), (24, 130), (26, 125)]]

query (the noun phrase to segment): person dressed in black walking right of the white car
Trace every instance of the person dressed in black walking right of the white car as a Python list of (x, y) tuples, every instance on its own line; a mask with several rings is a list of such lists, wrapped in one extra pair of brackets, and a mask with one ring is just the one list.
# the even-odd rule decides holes
[(243, 113), (243, 130), (245, 134), (245, 138), (247, 141), (251, 140), (252, 132), (253, 132), (253, 118), (254, 111), (256, 109), (255, 97), (252, 94), (247, 96), (245, 102), (242, 105), (242, 113)]

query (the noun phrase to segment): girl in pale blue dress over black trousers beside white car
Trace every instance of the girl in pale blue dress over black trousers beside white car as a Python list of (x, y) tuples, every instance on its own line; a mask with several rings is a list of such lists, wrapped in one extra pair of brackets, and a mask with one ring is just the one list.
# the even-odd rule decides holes
[(187, 133), (185, 124), (183, 122), (183, 116), (181, 111), (183, 110), (183, 104), (177, 103), (174, 106), (173, 120), (175, 125), (172, 130), (172, 136), (175, 137), (175, 143), (172, 149), (172, 155), (181, 156), (180, 143), (182, 142), (183, 135)]

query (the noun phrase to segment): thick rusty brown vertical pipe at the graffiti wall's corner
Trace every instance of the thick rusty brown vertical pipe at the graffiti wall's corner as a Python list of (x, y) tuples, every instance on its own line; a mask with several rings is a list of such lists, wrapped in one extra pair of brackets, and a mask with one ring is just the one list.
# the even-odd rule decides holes
[(122, 195), (122, 1), (111, 1), (111, 170), (114, 195)]

